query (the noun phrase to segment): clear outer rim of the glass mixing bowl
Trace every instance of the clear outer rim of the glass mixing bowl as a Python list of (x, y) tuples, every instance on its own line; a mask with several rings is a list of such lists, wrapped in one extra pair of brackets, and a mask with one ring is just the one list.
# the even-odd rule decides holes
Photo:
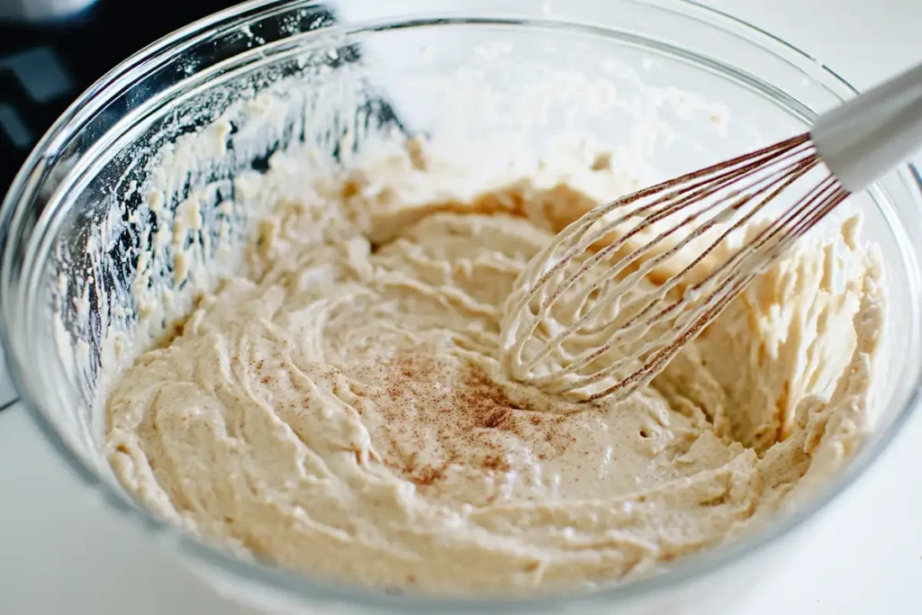
[[(700, 23), (716, 25), (724, 33), (735, 34), (745, 39), (749, 44), (756, 45), (761, 51), (771, 53), (775, 57), (786, 56), (787, 59), (795, 58), (798, 61), (796, 67), (798, 70), (807, 72), (810, 70), (811, 77), (839, 98), (848, 98), (857, 93), (857, 89), (852, 87), (844, 78), (839, 77), (826, 65), (822, 65), (809, 54), (804, 53), (796, 46), (786, 42), (773, 34), (758, 28), (742, 19), (735, 18), (727, 13), (714, 8), (703, 6), (694, 0), (627, 0), (632, 4), (656, 7), (667, 10), (681, 18), (689, 18)], [(11, 220), (18, 210), (18, 206), (24, 201), (24, 196), (28, 195), (30, 187), (30, 177), (34, 171), (41, 168), (45, 154), (53, 152), (53, 144), (60, 142), (59, 139), (73, 134), (73, 124), (79, 124), (77, 120), (84, 116), (88, 110), (100, 108), (100, 101), (106, 101), (117, 93), (117, 89), (129, 86), (133, 77), (140, 77), (145, 71), (150, 70), (152, 65), (158, 65), (157, 60), (164, 60), (172, 57), (176, 53), (176, 46), (182, 41), (187, 41), (195, 34), (202, 34), (214, 31), (221, 27), (222, 24), (240, 18), (250, 13), (263, 14), (273, 7), (282, 9), (290, 6), (314, 6), (310, 0), (250, 0), (237, 6), (231, 6), (225, 10), (214, 13), (207, 18), (199, 19), (194, 23), (185, 26), (180, 30), (175, 30), (171, 34), (156, 41), (145, 49), (135, 53), (112, 70), (105, 76), (101, 77), (95, 84), (84, 91), (77, 100), (71, 104), (67, 110), (57, 119), (47, 133), (41, 137), (40, 141), (33, 148), (29, 158), (24, 162), (22, 168), (18, 171), (13, 183), (6, 194), (2, 207), (0, 207), (0, 236), (8, 233)], [(588, 26), (585, 23), (559, 20), (554, 18), (523, 18), (521, 15), (510, 17), (502, 13), (490, 13), (484, 11), (461, 12), (461, 11), (427, 11), (424, 16), (416, 14), (400, 14), (395, 11), (390, 18), (378, 19), (374, 22), (348, 22), (338, 23), (333, 26), (325, 26), (315, 33), (318, 36), (330, 36), (336, 33), (355, 33), (368, 30), (380, 30), (387, 27), (403, 27), (412, 25), (427, 25), (433, 21), (439, 20), (440, 23), (477, 23), (491, 24), (498, 23), (505, 26), (522, 26), (527, 27), (529, 24), (544, 25), (561, 25), (569, 31), (584, 30), (598, 35), (606, 31), (617, 31), (614, 27), (609, 26)], [(694, 54), (694, 53), (692, 53)], [(694, 54), (696, 57), (697, 54)], [(166, 56), (166, 57), (165, 57)], [(834, 90), (833, 90), (834, 89)], [(798, 102), (791, 99), (785, 101), (787, 104)], [(922, 195), (922, 173), (912, 164), (907, 164), (904, 169), (904, 178), (908, 177), (911, 190), (915, 192), (916, 201), (920, 200)], [(10, 249), (8, 243), (0, 242), (4, 245), (6, 251)], [(7, 260), (6, 254), (0, 254), (0, 264)], [(0, 267), (0, 269), (3, 269)], [(6, 276), (5, 276), (6, 277)], [(6, 283), (6, 280), (3, 280)], [(7, 368), (16, 384), (20, 394), (24, 390), (21, 378), (18, 377), (18, 371), (23, 369), (19, 364), (17, 356), (12, 352), (12, 345), (8, 337), (8, 323), (6, 316), (0, 313), (0, 342), (6, 356)], [(272, 588), (289, 594), (292, 597), (301, 597), (305, 602), (316, 601), (334, 601), (352, 603), (355, 606), (377, 607), (377, 608), (394, 608), (401, 609), (405, 612), (431, 612), (437, 609), (438, 612), (469, 612), (477, 610), (479, 612), (507, 612), (507, 609), (527, 609), (528, 612), (550, 612), (556, 611), (563, 607), (572, 608), (579, 603), (601, 603), (608, 607), (617, 607), (621, 604), (630, 602), (634, 599), (646, 597), (658, 592), (669, 589), (676, 589), (680, 585), (685, 585), (693, 580), (703, 577), (706, 574), (714, 573), (723, 569), (734, 562), (743, 558), (748, 558), (756, 551), (760, 551), (780, 538), (785, 537), (793, 530), (806, 522), (814, 514), (817, 514), (827, 504), (831, 503), (847, 488), (853, 485), (858, 477), (864, 474), (865, 470), (879, 457), (881, 452), (886, 449), (898, 432), (901, 431), (906, 420), (913, 413), (920, 401), (920, 386), (922, 386), (922, 369), (916, 370), (916, 386), (912, 395), (907, 400), (904, 408), (898, 410), (894, 419), (881, 430), (873, 446), (858, 459), (853, 461), (845, 468), (845, 471), (833, 481), (833, 484), (822, 492), (822, 494), (813, 498), (810, 503), (800, 507), (796, 512), (788, 514), (784, 519), (768, 526), (765, 530), (757, 532), (753, 536), (744, 537), (732, 542), (727, 546), (716, 548), (707, 553), (699, 554), (676, 562), (672, 569), (664, 574), (654, 576), (649, 579), (633, 582), (631, 584), (601, 589), (589, 594), (560, 595), (552, 597), (537, 598), (465, 598), (465, 599), (440, 599), (431, 597), (418, 596), (394, 596), (385, 594), (380, 591), (365, 589), (357, 585), (346, 585), (326, 580), (314, 580), (310, 577), (290, 573), (278, 568), (274, 568), (259, 562), (245, 562), (235, 558), (229, 553), (207, 544), (195, 537), (185, 534), (180, 528), (172, 526), (161, 521), (159, 518), (149, 513), (148, 510), (140, 505), (127, 503), (123, 497), (120, 497), (112, 487), (105, 481), (100, 480), (94, 472), (86, 467), (79, 457), (70, 450), (61, 436), (55, 432), (53, 422), (50, 420), (37, 404), (30, 400), (30, 396), (21, 395), (22, 403), (30, 409), (30, 415), (37, 424), (39, 430), (53, 445), (55, 452), (65, 459), (66, 466), (69, 467), (77, 476), (82, 479), (89, 487), (97, 489), (97, 492), (105, 502), (117, 513), (133, 518), (151, 537), (156, 537), (161, 541), (172, 541), (178, 550), (186, 555), (192, 556), (195, 560), (214, 566), (224, 574), (239, 576), (250, 582), (255, 582), (266, 587)]]

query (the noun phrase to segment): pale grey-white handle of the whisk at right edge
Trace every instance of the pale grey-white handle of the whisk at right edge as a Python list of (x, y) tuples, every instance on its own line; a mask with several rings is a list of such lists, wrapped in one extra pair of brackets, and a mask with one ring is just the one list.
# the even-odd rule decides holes
[(845, 190), (864, 190), (922, 147), (922, 65), (823, 113), (810, 139)]

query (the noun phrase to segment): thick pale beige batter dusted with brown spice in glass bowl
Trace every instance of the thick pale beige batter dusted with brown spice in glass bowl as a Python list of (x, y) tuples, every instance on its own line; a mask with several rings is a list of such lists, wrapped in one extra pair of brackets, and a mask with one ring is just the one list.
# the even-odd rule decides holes
[(653, 386), (587, 407), (497, 357), (516, 275), (589, 199), (522, 181), (408, 206), (426, 161), (389, 165), (394, 185), (279, 198), (247, 275), (115, 385), (112, 466), (155, 511), (362, 584), (556, 590), (737, 536), (860, 442), (882, 313), (850, 224), (842, 288), (832, 245), (798, 248)]

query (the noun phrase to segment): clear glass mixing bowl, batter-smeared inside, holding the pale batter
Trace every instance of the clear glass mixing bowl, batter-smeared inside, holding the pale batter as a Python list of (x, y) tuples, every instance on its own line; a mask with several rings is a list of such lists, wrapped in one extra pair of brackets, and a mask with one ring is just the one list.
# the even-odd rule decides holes
[[(176, 275), (171, 242), (148, 249), (158, 231), (151, 182), (168, 179), (161, 209), (198, 199), (202, 224), (186, 241), (198, 242), (208, 264), (222, 226), (240, 230), (259, 214), (221, 206), (245, 201), (233, 180), (265, 170), (280, 149), (310, 148), (332, 169), (355, 163), (384, 134), (492, 138), (496, 149), (479, 160), (490, 166), (503, 148), (550, 154), (552, 136), (569, 132), (631, 144), (619, 160), (651, 160), (669, 174), (803, 131), (854, 94), (785, 42), (691, 3), (571, 0), (551, 13), (547, 3), (467, 0), (446, 14), (400, 4), (397, 15), (390, 3), (341, 2), (338, 22), (309, 2), (235, 6), (129, 58), (64, 113), (19, 171), (0, 219), (4, 349), (23, 399), (89, 488), (259, 609), (715, 612), (791, 554), (808, 519), (858, 478), (916, 404), (922, 245), (910, 238), (922, 237), (922, 199), (912, 167), (851, 202), (865, 214), (864, 237), (881, 246), (889, 298), (890, 343), (878, 370), (888, 378), (875, 384), (869, 440), (809, 503), (665, 574), (508, 600), (370, 591), (237, 559), (164, 524), (112, 476), (100, 446), (103, 350), (113, 332), (136, 329), (139, 295), (166, 306), (155, 323), (165, 326), (188, 306), (193, 282), (208, 281)], [(222, 237), (232, 253), (245, 233)]]

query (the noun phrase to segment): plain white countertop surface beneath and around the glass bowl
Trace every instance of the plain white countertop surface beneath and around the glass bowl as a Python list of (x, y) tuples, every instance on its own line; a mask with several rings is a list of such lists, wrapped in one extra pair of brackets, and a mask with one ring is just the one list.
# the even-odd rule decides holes
[[(705, 4), (793, 42), (859, 89), (922, 61), (920, 0)], [(0, 402), (4, 379), (0, 373)], [(738, 615), (922, 613), (920, 468), (916, 412), (876, 465), (812, 524), (797, 559), (753, 591)], [(77, 487), (24, 408), (0, 412), (0, 613), (166, 612), (248, 611), (216, 597)]]

